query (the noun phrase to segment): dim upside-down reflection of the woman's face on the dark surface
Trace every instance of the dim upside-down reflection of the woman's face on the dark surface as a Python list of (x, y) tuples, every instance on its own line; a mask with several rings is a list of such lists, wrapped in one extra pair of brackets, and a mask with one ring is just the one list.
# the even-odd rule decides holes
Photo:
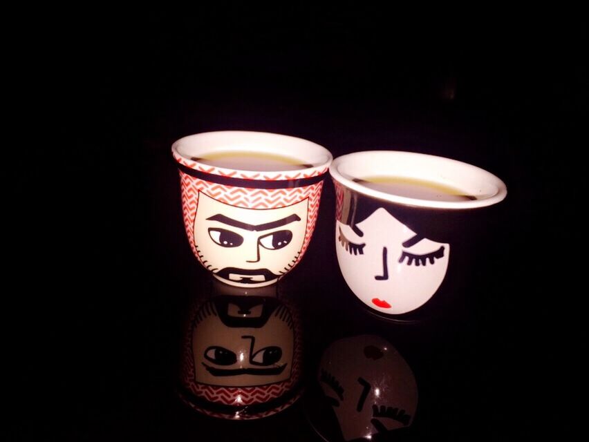
[(354, 336), (330, 345), (321, 358), (319, 384), (346, 441), (371, 439), (413, 421), (418, 403), (415, 376), (379, 336)]

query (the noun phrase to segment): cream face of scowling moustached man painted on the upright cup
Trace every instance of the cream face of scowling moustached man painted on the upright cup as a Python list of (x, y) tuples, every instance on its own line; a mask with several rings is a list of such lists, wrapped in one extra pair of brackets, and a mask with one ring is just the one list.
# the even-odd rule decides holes
[(244, 209), (200, 193), (194, 244), (218, 278), (246, 287), (268, 285), (297, 262), (307, 226), (308, 200), (278, 209)]

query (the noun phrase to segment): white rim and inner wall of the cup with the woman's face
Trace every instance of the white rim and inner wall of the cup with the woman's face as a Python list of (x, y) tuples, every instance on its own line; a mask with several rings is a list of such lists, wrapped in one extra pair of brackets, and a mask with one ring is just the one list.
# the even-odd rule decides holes
[[(366, 167), (377, 165), (381, 169), (386, 169), (389, 166), (391, 169), (395, 169), (395, 171), (391, 171), (395, 176), (440, 182), (440, 184), (447, 184), (456, 189), (464, 189), (472, 195), (481, 196), (481, 198), (464, 201), (425, 200), (371, 189), (350, 178), (349, 171), (353, 168), (362, 175), (361, 170), (363, 164)], [(403, 164), (405, 164), (404, 167)], [(423, 175), (426, 172), (428, 175)], [(329, 173), (333, 180), (362, 195), (406, 206), (429, 209), (475, 209), (497, 204), (505, 199), (507, 195), (507, 186), (505, 186), (505, 183), (496, 177), (496, 175), (485, 171), (485, 169), (480, 169), (480, 167), (458, 160), (451, 160), (447, 157), (427, 155), (424, 153), (406, 151), (361, 151), (348, 153), (333, 160), (329, 168)], [(398, 175), (398, 173), (401, 175)], [(362, 176), (355, 177), (361, 178)], [(484, 193), (483, 189), (485, 191)]]

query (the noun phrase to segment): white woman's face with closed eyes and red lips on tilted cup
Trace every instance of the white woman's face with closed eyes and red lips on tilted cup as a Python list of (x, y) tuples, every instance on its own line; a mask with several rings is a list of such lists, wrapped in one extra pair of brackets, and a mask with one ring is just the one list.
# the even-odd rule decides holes
[(337, 260), (348, 286), (362, 302), (386, 314), (417, 309), (442, 284), (449, 244), (423, 238), (385, 209), (352, 229), (337, 221)]

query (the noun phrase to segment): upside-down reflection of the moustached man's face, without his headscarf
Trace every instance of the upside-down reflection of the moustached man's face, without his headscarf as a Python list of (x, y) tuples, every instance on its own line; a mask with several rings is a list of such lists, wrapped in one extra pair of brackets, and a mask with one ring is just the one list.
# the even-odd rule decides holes
[(192, 335), (196, 382), (252, 387), (290, 378), (294, 331), (288, 309), (273, 299), (227, 299), (199, 313), (203, 319)]

